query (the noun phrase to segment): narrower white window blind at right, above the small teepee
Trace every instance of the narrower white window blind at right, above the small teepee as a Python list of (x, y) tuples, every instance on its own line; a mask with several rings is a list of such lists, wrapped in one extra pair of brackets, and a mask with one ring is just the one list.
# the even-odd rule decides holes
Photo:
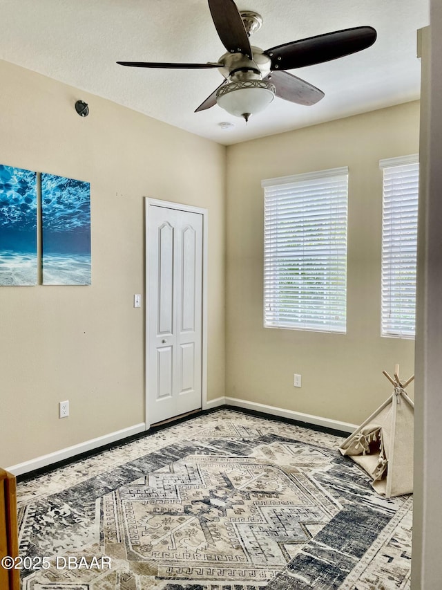
[(418, 156), (390, 158), (383, 170), (381, 334), (413, 338), (416, 322)]

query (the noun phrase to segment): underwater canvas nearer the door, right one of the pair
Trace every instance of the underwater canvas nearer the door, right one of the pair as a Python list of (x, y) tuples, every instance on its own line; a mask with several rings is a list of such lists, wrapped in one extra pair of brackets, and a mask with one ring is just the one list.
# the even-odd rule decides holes
[(41, 174), (44, 285), (90, 285), (90, 183)]

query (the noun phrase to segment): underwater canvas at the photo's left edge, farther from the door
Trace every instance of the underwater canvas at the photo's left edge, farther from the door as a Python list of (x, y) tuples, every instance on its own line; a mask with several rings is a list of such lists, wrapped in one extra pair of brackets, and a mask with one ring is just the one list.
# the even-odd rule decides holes
[(37, 284), (37, 173), (0, 164), (0, 286)]

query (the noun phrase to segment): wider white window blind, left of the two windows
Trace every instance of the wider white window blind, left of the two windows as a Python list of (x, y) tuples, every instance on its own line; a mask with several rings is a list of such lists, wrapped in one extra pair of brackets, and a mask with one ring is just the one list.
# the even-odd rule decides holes
[(262, 186), (264, 325), (345, 333), (347, 167)]

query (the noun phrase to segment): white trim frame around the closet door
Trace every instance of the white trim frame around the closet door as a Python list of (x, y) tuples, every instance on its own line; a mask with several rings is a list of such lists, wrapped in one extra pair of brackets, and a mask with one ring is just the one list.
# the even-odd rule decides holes
[(145, 306), (144, 306), (144, 321), (146, 326), (146, 333), (145, 333), (145, 391), (144, 391), (144, 412), (145, 412), (145, 422), (146, 422), (146, 430), (151, 426), (151, 424), (155, 423), (156, 420), (152, 420), (151, 416), (149, 416), (149, 348), (151, 342), (151, 326), (149, 325), (151, 322), (149, 321), (149, 285), (148, 285), (148, 277), (149, 277), (149, 256), (148, 256), (148, 243), (149, 243), (149, 212), (153, 211), (151, 207), (162, 207), (166, 209), (171, 209), (175, 211), (182, 211), (188, 213), (197, 213), (202, 216), (202, 362), (201, 362), (201, 407), (202, 409), (206, 409), (207, 407), (207, 270), (208, 270), (208, 217), (209, 212), (206, 209), (200, 207), (193, 207), (191, 205), (184, 205), (182, 203), (171, 203), (170, 201), (159, 201), (157, 199), (150, 199), (146, 197), (145, 199), (145, 228), (146, 228), (146, 235), (145, 235), (145, 248), (146, 248), (146, 257), (145, 257)]

